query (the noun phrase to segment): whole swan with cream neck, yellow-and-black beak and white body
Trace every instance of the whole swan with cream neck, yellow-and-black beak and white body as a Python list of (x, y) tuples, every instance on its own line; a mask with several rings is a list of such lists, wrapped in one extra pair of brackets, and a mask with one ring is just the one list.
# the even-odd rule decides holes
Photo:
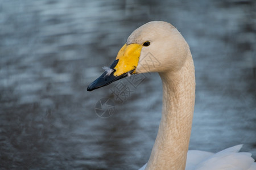
[[(159, 64), (149, 64), (154, 59)], [(195, 105), (195, 67), (187, 42), (167, 22), (149, 22), (135, 29), (112, 65), (87, 90), (132, 74), (158, 72), (163, 84), (162, 118), (150, 159), (141, 169), (256, 169), (242, 145), (213, 154), (188, 151)]]

